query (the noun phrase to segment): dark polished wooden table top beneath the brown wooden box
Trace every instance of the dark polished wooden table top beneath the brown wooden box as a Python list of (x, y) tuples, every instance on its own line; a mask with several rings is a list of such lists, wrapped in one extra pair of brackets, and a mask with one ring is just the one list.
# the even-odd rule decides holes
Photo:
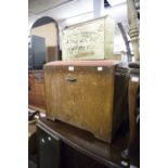
[[(37, 126), (47, 131), (50, 135), (60, 138), (75, 150), (108, 167), (120, 168), (128, 164), (120, 155), (128, 143), (128, 126), (126, 125), (117, 131), (111, 144), (95, 139), (93, 134), (88, 131), (59, 120), (51, 121), (44, 117), (38, 120)], [(138, 152), (134, 154), (129, 163), (134, 168), (140, 167), (140, 153)]]

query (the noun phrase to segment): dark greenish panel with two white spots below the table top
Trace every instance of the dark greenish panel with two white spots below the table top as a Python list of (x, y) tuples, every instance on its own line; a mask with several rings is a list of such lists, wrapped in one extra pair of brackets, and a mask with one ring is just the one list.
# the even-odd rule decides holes
[(60, 168), (61, 140), (37, 128), (40, 168)]

